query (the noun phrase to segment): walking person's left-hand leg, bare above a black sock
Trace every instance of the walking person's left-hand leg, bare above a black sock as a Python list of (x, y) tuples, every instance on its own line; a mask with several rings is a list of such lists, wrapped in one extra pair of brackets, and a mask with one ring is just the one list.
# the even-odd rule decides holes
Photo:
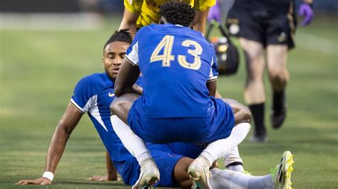
[(240, 38), (240, 45), (245, 52), (247, 65), (247, 81), (244, 89), (244, 99), (252, 112), (255, 131), (251, 141), (264, 142), (267, 140), (265, 114), (265, 87), (263, 75), (265, 70), (264, 47), (256, 41)]

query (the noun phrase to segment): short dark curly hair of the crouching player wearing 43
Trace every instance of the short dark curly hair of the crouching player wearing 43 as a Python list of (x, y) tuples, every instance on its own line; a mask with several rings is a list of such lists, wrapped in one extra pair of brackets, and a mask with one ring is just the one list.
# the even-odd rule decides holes
[(185, 2), (168, 1), (160, 6), (158, 14), (168, 23), (188, 27), (195, 18), (195, 9)]

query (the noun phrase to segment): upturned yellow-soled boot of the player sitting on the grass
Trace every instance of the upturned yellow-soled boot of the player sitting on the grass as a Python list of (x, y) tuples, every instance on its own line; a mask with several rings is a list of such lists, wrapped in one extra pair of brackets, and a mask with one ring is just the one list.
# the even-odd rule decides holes
[(293, 155), (290, 151), (283, 153), (280, 164), (273, 168), (270, 172), (272, 175), (272, 182), (275, 188), (278, 189), (291, 189), (291, 172), (293, 171), (292, 165), (295, 163), (292, 159)]

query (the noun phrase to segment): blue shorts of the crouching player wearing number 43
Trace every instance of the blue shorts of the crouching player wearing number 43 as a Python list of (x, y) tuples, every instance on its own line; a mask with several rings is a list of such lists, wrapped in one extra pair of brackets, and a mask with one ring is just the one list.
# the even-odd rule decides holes
[[(140, 99), (140, 98), (139, 98)], [(210, 97), (215, 112), (210, 117), (146, 118), (141, 101), (137, 99), (128, 112), (130, 128), (143, 141), (155, 144), (173, 142), (208, 144), (218, 139), (226, 139), (234, 126), (232, 108), (222, 99)]]

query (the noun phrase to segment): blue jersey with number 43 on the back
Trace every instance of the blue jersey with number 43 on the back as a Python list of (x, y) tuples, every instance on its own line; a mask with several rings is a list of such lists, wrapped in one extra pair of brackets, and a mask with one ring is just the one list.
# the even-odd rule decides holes
[(126, 58), (143, 75), (147, 118), (208, 117), (215, 112), (206, 83), (217, 79), (215, 50), (202, 33), (151, 24), (136, 33)]

